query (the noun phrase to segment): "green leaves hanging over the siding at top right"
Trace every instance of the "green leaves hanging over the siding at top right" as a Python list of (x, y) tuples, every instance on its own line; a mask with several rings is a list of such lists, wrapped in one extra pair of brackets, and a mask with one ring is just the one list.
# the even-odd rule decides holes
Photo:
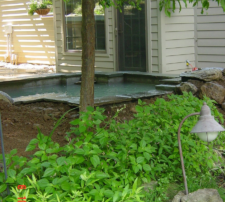
[[(225, 12), (225, 0), (212, 0), (218, 3), (218, 6), (221, 5), (223, 11)], [(211, 1), (211, 2), (212, 2)], [(159, 2), (159, 9), (160, 11), (162, 11), (162, 9), (164, 8), (165, 14), (167, 16), (171, 16), (171, 10), (174, 12), (177, 9), (177, 3), (179, 5), (179, 11), (181, 11), (182, 6), (181, 6), (181, 1), (180, 0), (160, 0)], [(201, 4), (202, 5), (202, 10), (201, 10), (201, 14), (204, 13), (204, 10), (208, 10), (209, 6), (210, 6), (210, 0), (183, 0), (185, 7), (187, 8), (187, 4), (188, 2), (191, 3), (194, 6)]]

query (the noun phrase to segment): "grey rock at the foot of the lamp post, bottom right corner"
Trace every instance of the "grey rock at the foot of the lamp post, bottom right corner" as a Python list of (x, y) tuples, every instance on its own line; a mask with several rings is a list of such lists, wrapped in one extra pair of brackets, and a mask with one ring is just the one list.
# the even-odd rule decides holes
[(223, 202), (216, 189), (199, 189), (181, 198), (181, 202)]

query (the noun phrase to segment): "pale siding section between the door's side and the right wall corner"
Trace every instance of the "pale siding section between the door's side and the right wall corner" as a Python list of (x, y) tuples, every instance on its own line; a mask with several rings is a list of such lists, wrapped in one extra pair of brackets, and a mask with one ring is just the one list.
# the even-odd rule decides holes
[[(194, 40), (194, 9), (188, 4), (187, 8), (183, 2), (182, 10), (177, 9), (167, 17), (161, 12), (161, 72), (179, 74), (190, 67), (185, 61), (189, 60), (195, 65), (195, 40)], [(176, 5), (179, 8), (178, 4)]]

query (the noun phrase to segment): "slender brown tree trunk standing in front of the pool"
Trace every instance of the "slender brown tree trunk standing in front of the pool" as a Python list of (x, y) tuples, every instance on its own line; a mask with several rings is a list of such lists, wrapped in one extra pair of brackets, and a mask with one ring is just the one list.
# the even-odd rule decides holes
[(87, 106), (94, 107), (95, 77), (95, 1), (82, 0), (82, 76), (80, 90), (80, 111)]

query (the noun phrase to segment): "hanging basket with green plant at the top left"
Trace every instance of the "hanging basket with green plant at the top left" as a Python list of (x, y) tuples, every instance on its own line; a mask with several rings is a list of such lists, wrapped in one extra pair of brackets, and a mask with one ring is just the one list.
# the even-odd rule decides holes
[(37, 0), (32, 0), (29, 6), (28, 14), (34, 15), (37, 13), (39, 15), (47, 15), (51, 10), (52, 2), (49, 0), (42, 0), (38, 2)]

